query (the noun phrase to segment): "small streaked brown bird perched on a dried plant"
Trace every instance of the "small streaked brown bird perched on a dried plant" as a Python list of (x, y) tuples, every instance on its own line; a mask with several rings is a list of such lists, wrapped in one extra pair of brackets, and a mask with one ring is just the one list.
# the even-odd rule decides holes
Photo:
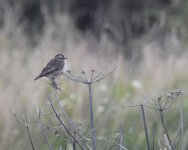
[(55, 55), (34, 80), (46, 77), (49, 78), (52, 83), (55, 83), (54, 79), (66, 71), (66, 59), (67, 58), (62, 54)]

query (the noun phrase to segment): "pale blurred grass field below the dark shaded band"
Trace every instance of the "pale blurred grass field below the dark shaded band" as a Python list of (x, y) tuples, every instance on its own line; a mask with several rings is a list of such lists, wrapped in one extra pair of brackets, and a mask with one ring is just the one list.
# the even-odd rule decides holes
[[(36, 149), (48, 149), (37, 107), (44, 112), (42, 124), (53, 149), (60, 149), (61, 145), (65, 147), (70, 137), (62, 134), (59, 121), (49, 105), (49, 95), (58, 111), (60, 108), (55, 100), (60, 100), (79, 133), (88, 134), (85, 139), (92, 147), (87, 85), (62, 76), (58, 80), (62, 91), (57, 93), (57, 98), (48, 80), (33, 80), (57, 53), (68, 57), (68, 69), (76, 74), (82, 71), (91, 74), (92, 69), (106, 74), (118, 66), (108, 78), (92, 85), (97, 149), (110, 149), (113, 144), (122, 147), (116, 145), (112, 149), (147, 149), (140, 105), (146, 106), (150, 148), (168, 149), (169, 141), (161, 124), (159, 107), (153, 100), (161, 95), (165, 100), (167, 93), (173, 91), (182, 91), (182, 94), (175, 103), (173, 98), (170, 99), (172, 102), (167, 102), (170, 107), (163, 111), (165, 126), (172, 142), (177, 139), (175, 149), (188, 149), (186, 37), (180, 38), (176, 32), (170, 32), (160, 39), (153, 29), (132, 41), (132, 51), (136, 52), (126, 60), (117, 50), (122, 45), (111, 41), (105, 34), (101, 35), (100, 41), (89, 32), (81, 34), (67, 14), (57, 13), (53, 22), (48, 21), (43, 35), (36, 35), (37, 46), (32, 46), (22, 26), (16, 22), (14, 13), (9, 11), (0, 29), (0, 149), (32, 149), (26, 127), (16, 120), (25, 120), (24, 114), (31, 124), (29, 127)], [(16, 116), (13, 117), (11, 112)], [(70, 126), (69, 130), (72, 132)], [(67, 143), (67, 149), (73, 149), (71, 142)]]

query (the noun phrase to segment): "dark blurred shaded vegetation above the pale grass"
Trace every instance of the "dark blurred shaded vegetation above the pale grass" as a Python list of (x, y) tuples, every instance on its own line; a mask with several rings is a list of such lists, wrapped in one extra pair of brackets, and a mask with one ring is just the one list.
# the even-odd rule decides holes
[[(164, 37), (173, 26), (161, 27), (161, 15), (174, 14), (176, 17), (177, 11), (183, 11), (184, 3), (187, 4), (183, 0), (7, 0), (1, 1), (1, 7), (10, 7), (19, 14), (18, 24), (24, 24), (25, 33), (33, 41), (32, 46), (37, 44), (36, 33), (43, 34), (46, 13), (53, 20), (56, 12), (60, 12), (70, 14), (82, 34), (89, 31), (98, 40), (101, 34), (106, 34), (117, 44), (126, 45), (129, 48), (121, 47), (118, 51), (130, 58), (133, 53), (130, 41), (140, 38), (154, 26), (158, 26), (156, 36)], [(5, 13), (3, 8), (1, 16)]]

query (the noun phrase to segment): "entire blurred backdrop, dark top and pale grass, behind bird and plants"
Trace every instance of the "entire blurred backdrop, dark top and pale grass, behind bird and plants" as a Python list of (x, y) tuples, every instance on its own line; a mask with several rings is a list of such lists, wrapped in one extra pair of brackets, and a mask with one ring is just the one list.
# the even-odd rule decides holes
[[(128, 100), (151, 100), (161, 93), (180, 89), (187, 125), (187, 1), (92, 2), (56, 0), (53, 5), (44, 1), (1, 2), (0, 149), (31, 149), (25, 128), (9, 111), (28, 112), (31, 122), (37, 123), (36, 105), (48, 110), (46, 103), (52, 91), (46, 80), (33, 79), (57, 53), (67, 56), (68, 68), (77, 73), (91, 69), (107, 73), (119, 66), (110, 78), (93, 87), (101, 147), (102, 137), (115, 136), (121, 127), (126, 148), (146, 149), (140, 110), (122, 109), (112, 103), (126, 105)], [(66, 111), (73, 121), (87, 128), (90, 117), (87, 88), (65, 77), (61, 77), (61, 82)], [(178, 104), (165, 115), (172, 137), (180, 120)], [(159, 116), (151, 110), (146, 110), (146, 114), (150, 136), (152, 127), (157, 126), (157, 141), (162, 137)], [(48, 119), (44, 119), (46, 124), (53, 122)], [(31, 130), (37, 148), (47, 149), (40, 127)], [(188, 149), (186, 126), (184, 132), (184, 146)], [(49, 134), (51, 143), (58, 148), (62, 141)]]

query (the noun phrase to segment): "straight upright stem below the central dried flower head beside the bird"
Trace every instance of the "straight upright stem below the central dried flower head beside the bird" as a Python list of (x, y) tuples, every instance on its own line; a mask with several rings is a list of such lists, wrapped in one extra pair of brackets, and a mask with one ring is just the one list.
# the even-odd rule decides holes
[(92, 141), (93, 141), (93, 150), (96, 150), (96, 137), (95, 137), (95, 128), (94, 128), (94, 118), (93, 118), (93, 99), (92, 99), (92, 90), (91, 84), (89, 86), (89, 100), (90, 100), (90, 117), (91, 117), (91, 133), (92, 133)]

